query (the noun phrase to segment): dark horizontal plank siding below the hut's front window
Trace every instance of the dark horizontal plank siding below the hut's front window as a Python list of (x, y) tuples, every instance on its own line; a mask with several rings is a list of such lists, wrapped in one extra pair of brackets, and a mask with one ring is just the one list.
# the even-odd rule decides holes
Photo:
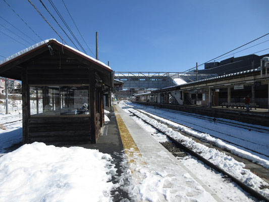
[(91, 142), (90, 117), (34, 117), (28, 120), (29, 143), (86, 144)]

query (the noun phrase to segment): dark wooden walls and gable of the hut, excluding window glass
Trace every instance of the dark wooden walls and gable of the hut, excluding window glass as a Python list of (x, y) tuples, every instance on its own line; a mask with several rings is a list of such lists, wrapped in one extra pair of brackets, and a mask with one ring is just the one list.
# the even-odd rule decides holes
[[(52, 47), (52, 51), (48, 49), (48, 44)], [(0, 74), (22, 80), (23, 143), (40, 141), (46, 144), (68, 145), (97, 142), (100, 127), (103, 125), (103, 86), (112, 87), (112, 70), (110, 68), (55, 40), (0, 66)], [(89, 87), (90, 115), (72, 114), (69, 116), (59, 113), (59, 115), (46, 116), (42, 115), (42, 112), (37, 113), (38, 115), (30, 115), (31, 100), (35, 100), (37, 106), (35, 110), (38, 112), (38, 98), (30, 97), (29, 86), (65, 85)], [(43, 109), (45, 97), (41, 98)], [(55, 100), (54, 97), (51, 99), (52, 108), (55, 107), (55, 103), (58, 103), (61, 112), (61, 99), (56, 98), (57, 100)], [(33, 113), (35, 113), (34, 110)]]

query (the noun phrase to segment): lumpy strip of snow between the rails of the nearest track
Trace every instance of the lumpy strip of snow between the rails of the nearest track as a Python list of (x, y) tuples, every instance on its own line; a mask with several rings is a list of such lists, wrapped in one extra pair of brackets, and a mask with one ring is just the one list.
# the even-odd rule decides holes
[[(269, 197), (269, 189), (260, 189), (260, 187), (266, 187), (269, 186), (269, 184), (264, 182), (261, 178), (253, 174), (251, 171), (244, 169), (245, 165), (243, 163), (237, 162), (234, 158), (227, 156), (225, 153), (222, 153), (214, 148), (209, 148), (200, 143), (197, 143), (191, 138), (188, 138), (184, 135), (181, 135), (179, 132), (172, 130), (167, 125), (159, 123), (154, 119), (150, 119), (142, 113), (137, 112), (136, 110), (129, 110), (137, 114), (139, 117), (142, 117), (144, 120), (154, 125), (158, 129), (165, 131), (171, 137), (181, 141), (187, 147), (192, 148), (192, 150), (200, 154), (203, 158), (209, 160), (213, 164), (227, 171), (228, 173), (230, 173), (240, 181), (244, 182), (254, 190), (258, 191), (265, 197)], [(125, 109), (125, 111), (127, 110)]]

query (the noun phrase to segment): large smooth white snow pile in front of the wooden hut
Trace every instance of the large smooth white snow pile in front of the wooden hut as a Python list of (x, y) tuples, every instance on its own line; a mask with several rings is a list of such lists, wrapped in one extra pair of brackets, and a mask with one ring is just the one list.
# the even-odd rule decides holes
[(0, 201), (111, 201), (111, 160), (95, 149), (25, 144), (0, 158)]

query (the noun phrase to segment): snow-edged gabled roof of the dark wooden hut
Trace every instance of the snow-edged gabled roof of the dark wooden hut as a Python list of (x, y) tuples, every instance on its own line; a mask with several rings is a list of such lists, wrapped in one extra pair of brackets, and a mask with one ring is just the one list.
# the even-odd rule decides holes
[[(77, 49), (64, 45), (56, 39), (48, 39), (32, 45), (3, 61), (0, 61), (0, 76), (21, 80), (22, 68), (26, 68), (28, 65), (33, 63), (40, 65), (38, 60), (42, 55), (51, 55), (54, 52), (59, 52), (55, 54), (58, 54), (60, 59), (62, 57), (61, 61), (75, 61), (74, 63), (70, 62), (70, 65), (75, 64), (78, 67), (90, 67), (106, 75), (111, 75), (111, 72), (113, 72), (109, 66), (78, 51)], [(57, 64), (58, 63), (59, 62), (57, 62)]]

